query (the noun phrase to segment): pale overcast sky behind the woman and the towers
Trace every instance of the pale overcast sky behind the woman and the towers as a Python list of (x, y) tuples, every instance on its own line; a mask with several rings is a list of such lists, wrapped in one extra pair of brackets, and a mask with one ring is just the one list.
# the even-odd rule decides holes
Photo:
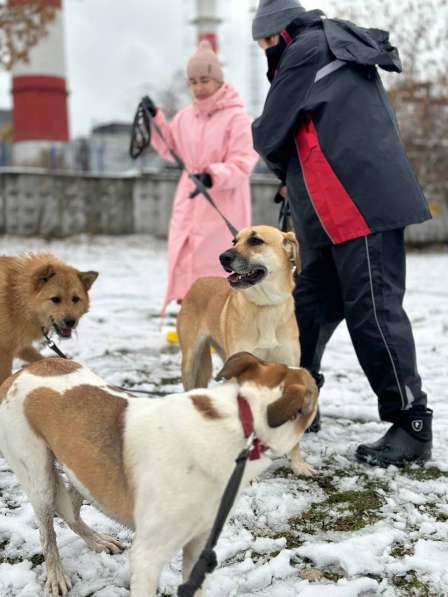
[[(325, 9), (325, 4), (303, 1), (308, 9)], [(264, 58), (260, 50), (253, 52), (250, 36), (251, 2), (218, 0), (218, 5), (226, 79), (250, 108), (254, 84), (260, 101), (266, 93)], [(99, 123), (130, 121), (144, 93), (157, 99), (193, 52), (196, 33), (189, 21), (195, 7), (196, 0), (65, 0), (72, 137), (88, 134)], [(1, 73), (0, 107), (11, 106), (10, 88), (10, 76)]]

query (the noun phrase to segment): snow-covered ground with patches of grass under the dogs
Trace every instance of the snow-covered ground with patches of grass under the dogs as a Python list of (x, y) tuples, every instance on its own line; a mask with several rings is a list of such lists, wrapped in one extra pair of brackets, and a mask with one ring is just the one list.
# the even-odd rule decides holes
[[(61, 345), (64, 351), (111, 383), (149, 389), (157, 397), (181, 390), (179, 354), (165, 342), (174, 319), (169, 316), (162, 327), (158, 316), (166, 280), (163, 243), (136, 236), (0, 240), (0, 253), (27, 250), (100, 271), (91, 311), (77, 336)], [(435, 411), (433, 460), (404, 471), (354, 461), (356, 445), (379, 437), (387, 425), (378, 421), (376, 400), (341, 326), (324, 361), (323, 428), (302, 443), (319, 474), (297, 478), (276, 460), (245, 491), (219, 543), (210, 597), (448, 595), (447, 272), (447, 251), (409, 256), (406, 308)], [(83, 513), (96, 529), (130, 543), (130, 532), (91, 506)], [(36, 522), (2, 459), (0, 514), (0, 595), (43, 595)], [(126, 552), (92, 553), (60, 521), (56, 527), (72, 595), (129, 595)], [(179, 565), (176, 558), (164, 570), (161, 594), (176, 594)]]

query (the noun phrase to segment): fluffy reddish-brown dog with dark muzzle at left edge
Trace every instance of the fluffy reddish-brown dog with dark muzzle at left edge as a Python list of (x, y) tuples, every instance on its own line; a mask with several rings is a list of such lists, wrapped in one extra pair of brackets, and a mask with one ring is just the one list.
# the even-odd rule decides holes
[(0, 383), (12, 362), (42, 358), (32, 346), (42, 330), (70, 336), (89, 309), (97, 272), (80, 272), (48, 254), (0, 257)]

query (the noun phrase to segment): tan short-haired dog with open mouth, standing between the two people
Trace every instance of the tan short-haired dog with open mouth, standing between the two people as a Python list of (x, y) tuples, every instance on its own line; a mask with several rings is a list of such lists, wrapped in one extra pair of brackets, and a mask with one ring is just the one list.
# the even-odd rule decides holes
[[(199, 278), (187, 292), (177, 318), (186, 390), (207, 387), (212, 376), (210, 347), (223, 360), (240, 351), (289, 367), (300, 364), (299, 330), (294, 312), (293, 272), (298, 245), (293, 232), (250, 226), (220, 256), (230, 273)], [(291, 468), (311, 475), (298, 450)]]

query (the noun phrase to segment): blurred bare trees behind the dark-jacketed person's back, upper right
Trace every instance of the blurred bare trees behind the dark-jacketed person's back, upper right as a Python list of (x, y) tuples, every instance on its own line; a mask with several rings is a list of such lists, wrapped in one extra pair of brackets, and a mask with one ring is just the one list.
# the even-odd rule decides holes
[(328, 0), (327, 4), (329, 16), (390, 31), (403, 74), (381, 76), (402, 141), (428, 197), (448, 201), (448, 0)]

